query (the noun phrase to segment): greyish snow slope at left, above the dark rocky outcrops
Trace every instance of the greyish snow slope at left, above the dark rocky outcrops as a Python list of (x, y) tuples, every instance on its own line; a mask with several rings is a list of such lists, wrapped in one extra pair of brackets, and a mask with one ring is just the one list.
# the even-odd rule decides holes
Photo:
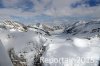
[(33, 62), (34, 55), (38, 53), (38, 50), (46, 41), (42, 35), (38, 35), (33, 31), (11, 32), (4, 30), (0, 32), (0, 39), (6, 50), (14, 48), (18, 56), (24, 55), (26, 57), (29, 65), (32, 64), (30, 62)]

